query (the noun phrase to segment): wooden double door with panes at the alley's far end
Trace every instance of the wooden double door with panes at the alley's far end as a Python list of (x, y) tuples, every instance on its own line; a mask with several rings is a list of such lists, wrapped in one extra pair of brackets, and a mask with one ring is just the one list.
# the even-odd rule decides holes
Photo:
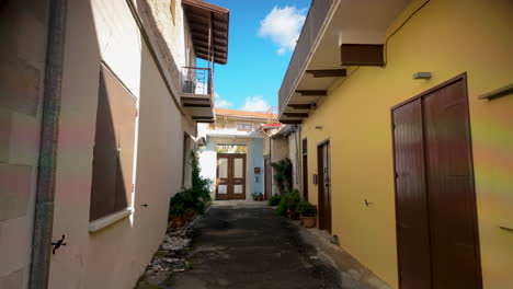
[(216, 199), (246, 199), (246, 153), (217, 154)]

